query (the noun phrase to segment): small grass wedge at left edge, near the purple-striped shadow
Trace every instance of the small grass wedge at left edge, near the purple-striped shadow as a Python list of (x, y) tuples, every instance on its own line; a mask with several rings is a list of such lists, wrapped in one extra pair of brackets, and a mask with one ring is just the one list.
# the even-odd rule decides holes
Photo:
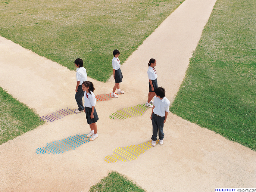
[(42, 124), (33, 110), (0, 87), (0, 144)]

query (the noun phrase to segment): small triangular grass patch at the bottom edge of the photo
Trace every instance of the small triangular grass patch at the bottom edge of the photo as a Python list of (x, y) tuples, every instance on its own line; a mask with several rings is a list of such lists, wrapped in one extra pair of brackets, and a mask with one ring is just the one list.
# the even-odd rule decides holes
[(88, 192), (145, 192), (141, 187), (136, 186), (123, 175), (117, 172), (110, 172), (101, 182), (92, 186)]

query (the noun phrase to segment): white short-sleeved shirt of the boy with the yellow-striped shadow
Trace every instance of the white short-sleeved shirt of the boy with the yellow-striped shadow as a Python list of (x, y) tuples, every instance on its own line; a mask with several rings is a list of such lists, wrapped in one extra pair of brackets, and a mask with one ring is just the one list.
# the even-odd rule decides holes
[(165, 116), (165, 111), (169, 113), (169, 107), (170, 107), (170, 101), (164, 97), (162, 99), (159, 99), (158, 97), (155, 96), (154, 98), (154, 106), (155, 108), (153, 109), (153, 112), (156, 115), (159, 115), (161, 117)]

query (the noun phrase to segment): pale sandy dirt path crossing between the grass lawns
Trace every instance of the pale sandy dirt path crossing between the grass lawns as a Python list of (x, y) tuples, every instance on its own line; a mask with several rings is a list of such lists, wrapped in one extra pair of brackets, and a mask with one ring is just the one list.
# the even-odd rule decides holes
[[(152, 147), (133, 161), (104, 161), (117, 147), (150, 140), (151, 110), (124, 120), (111, 120), (108, 115), (145, 103), (150, 58), (157, 60), (158, 85), (173, 100), (215, 1), (183, 2), (121, 66), (120, 85), (126, 93), (96, 103), (100, 120), (95, 141), (63, 154), (35, 153), (48, 142), (88, 133), (89, 125), (80, 113), (0, 145), (0, 191), (88, 191), (112, 170), (147, 192), (255, 187), (255, 151), (171, 113), (164, 125), (163, 146)], [(107, 83), (89, 80), (95, 83), (95, 94), (110, 93), (114, 85), (112, 77)], [(75, 72), (0, 38), (0, 86), (39, 115), (76, 107), (75, 83)]]

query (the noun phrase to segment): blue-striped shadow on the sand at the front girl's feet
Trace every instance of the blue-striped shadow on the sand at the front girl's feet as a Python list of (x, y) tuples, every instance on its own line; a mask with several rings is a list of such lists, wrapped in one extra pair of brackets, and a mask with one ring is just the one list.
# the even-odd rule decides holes
[(47, 143), (45, 147), (37, 148), (37, 154), (52, 153), (60, 154), (66, 151), (75, 150), (75, 148), (80, 147), (84, 143), (89, 143), (89, 138), (86, 138), (87, 134), (84, 135), (74, 135), (62, 140), (53, 141)]

